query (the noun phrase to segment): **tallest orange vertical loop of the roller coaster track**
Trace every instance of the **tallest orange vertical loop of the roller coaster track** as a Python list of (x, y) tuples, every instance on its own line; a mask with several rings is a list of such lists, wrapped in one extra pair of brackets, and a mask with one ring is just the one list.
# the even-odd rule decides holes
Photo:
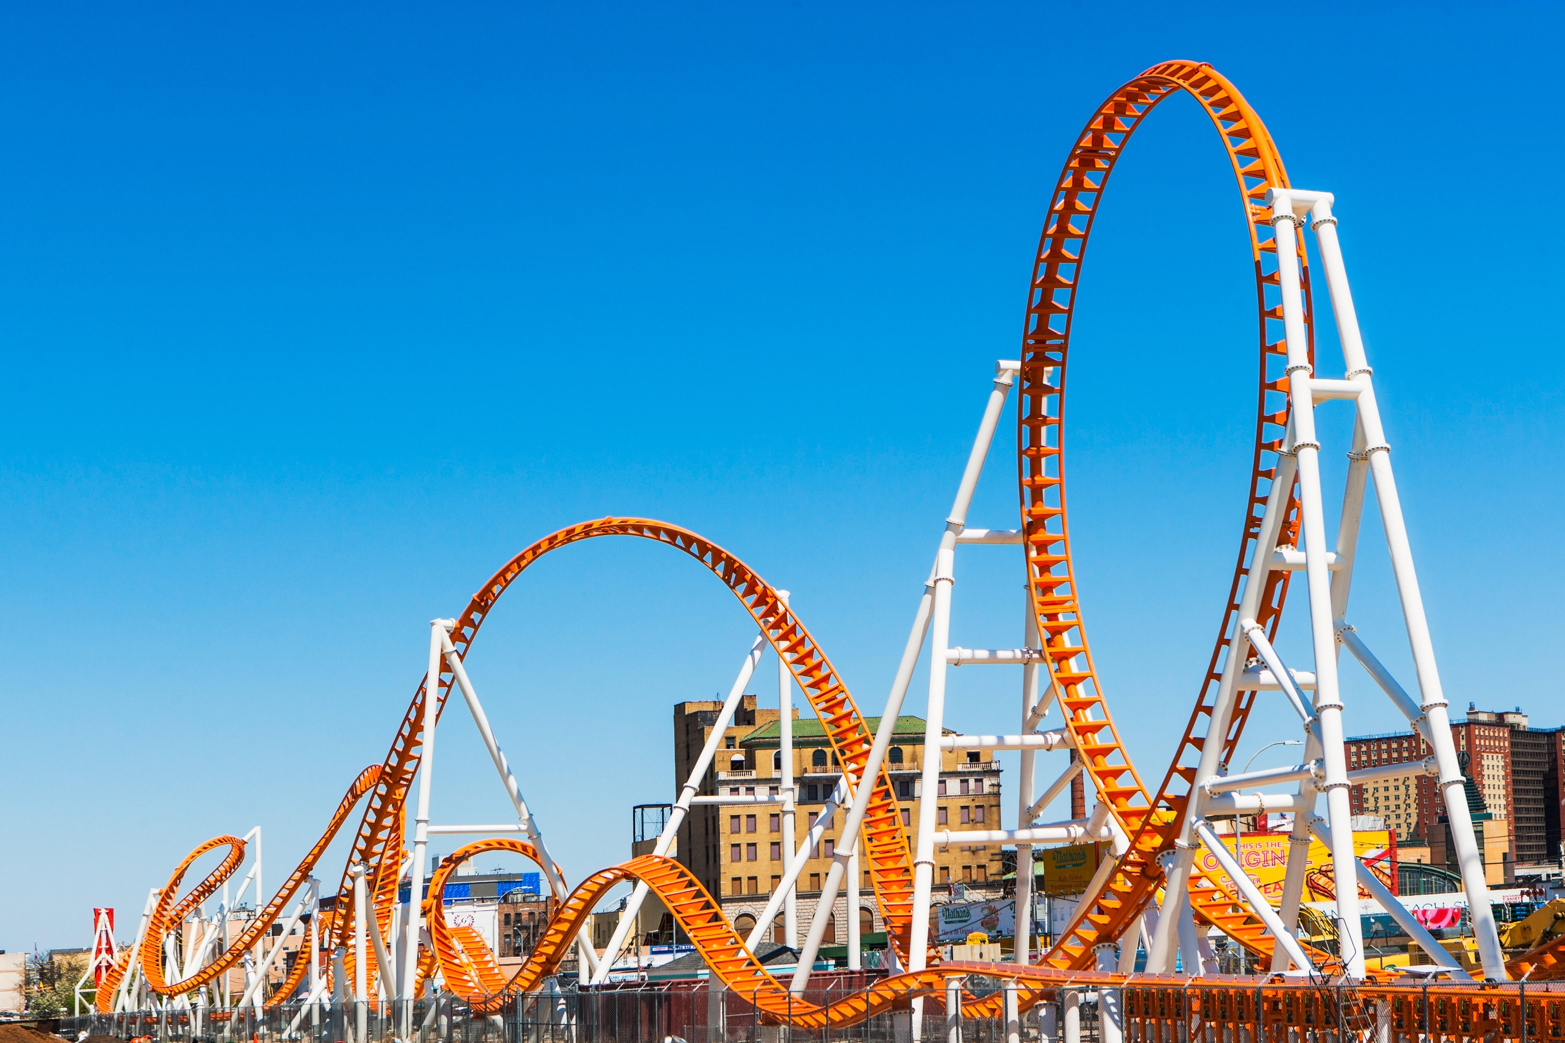
[[(1238, 181), (1255, 266), (1260, 389), (1249, 499), (1227, 608), (1196, 708), (1174, 763), (1158, 788), (1157, 801), (1152, 801), (1124, 752), (1083, 630), (1066, 518), (1063, 433), (1077, 288), (1099, 205), (1130, 138), (1161, 102), (1178, 91), (1194, 97), (1218, 128)], [(1282, 311), (1280, 305), (1268, 302), (1268, 291), (1274, 292), (1277, 286), (1277, 263), (1268, 224), (1271, 211), (1265, 206), (1266, 188), (1286, 185), (1288, 174), (1260, 116), (1211, 66), (1191, 61), (1153, 66), (1114, 91), (1088, 120), (1055, 183), (1033, 267), (1017, 410), (1027, 582), (1038, 632), (1044, 635), (1050, 668), (1060, 685), (1067, 727), (1099, 794), (1131, 837), (1130, 851), (1108, 885), (1094, 901), (1081, 904), (1061, 940), (1044, 954), (1044, 962), (1055, 968), (1086, 966), (1092, 959), (1092, 946), (1117, 938), (1152, 901), (1161, 880), (1158, 855), (1172, 846), (1178, 833), (1186, 793), (1194, 780), (1194, 768), (1185, 765), (1185, 760), (1214, 738), (1221, 738), (1225, 751), (1232, 751), (1254, 702), (1255, 693), (1244, 693), (1227, 735), (1202, 733), (1203, 726), (1211, 721), (1222, 655), (1236, 624), (1244, 569), (1250, 555), (1261, 552), (1255, 546), (1261, 511), (1288, 422), (1286, 378), (1268, 380), (1268, 366), (1285, 357), (1285, 347), (1280, 330), (1271, 328), (1272, 322), (1280, 321)], [(1304, 278), (1304, 296), (1308, 300), (1308, 269)], [(1313, 344), (1313, 313), (1308, 311), (1307, 328)], [(1297, 508), (1290, 497), (1279, 541), (1291, 543), (1297, 525)], [(1269, 554), (1271, 547), (1265, 552)], [(1272, 572), (1268, 585), (1258, 621), (1269, 633), (1275, 633), (1288, 591), (1288, 572)], [(1243, 913), (1227, 891), (1199, 873), (1191, 880), (1191, 901), (1199, 916), (1254, 951), (1271, 951), (1271, 941), (1260, 924), (1249, 923), (1254, 918)]]

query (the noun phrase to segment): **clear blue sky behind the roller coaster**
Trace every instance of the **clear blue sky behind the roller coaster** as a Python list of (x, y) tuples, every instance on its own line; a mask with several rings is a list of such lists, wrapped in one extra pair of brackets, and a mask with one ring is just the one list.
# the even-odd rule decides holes
[[(383, 755), (427, 619), (584, 518), (728, 546), (878, 711), (1052, 178), (1164, 58), (1214, 63), (1294, 183), (1337, 192), (1452, 704), (1565, 724), (1565, 27), (1310, 11), (0, 11), (0, 948), (88, 944), (92, 905), (131, 924), (257, 823), (280, 882)], [(1106, 200), (1069, 413), (1089, 635), (1149, 785), (1238, 541), (1252, 308), (1232, 175), (1175, 99)], [(973, 524), (1016, 524), (1011, 424)], [(1017, 643), (1014, 550), (961, 569), (953, 641)], [(1382, 552), (1354, 597), (1410, 679)], [(671, 704), (726, 691), (748, 641), (643, 543), (507, 594), (470, 666), (573, 879), (628, 855), (629, 805), (673, 790)], [(1396, 727), (1347, 676), (1351, 730)], [(1016, 704), (961, 672), (948, 722)], [(499, 819), (471, 724), (441, 737), (437, 818)]]

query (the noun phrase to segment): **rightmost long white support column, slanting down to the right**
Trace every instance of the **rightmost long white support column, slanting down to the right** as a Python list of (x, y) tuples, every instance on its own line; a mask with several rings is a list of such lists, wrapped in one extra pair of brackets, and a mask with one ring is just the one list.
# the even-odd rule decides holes
[[(1424, 616), (1424, 599), (1418, 590), (1418, 572), (1413, 568), (1413, 550), (1407, 539), (1407, 524), (1402, 518), (1402, 502), (1391, 475), (1391, 447), (1380, 425), (1380, 410), (1376, 405), (1371, 369), (1365, 357), (1363, 338), (1358, 332), (1358, 314), (1352, 292), (1347, 288), (1347, 269), (1343, 264), (1341, 244), (1337, 239), (1337, 217), (1332, 216), (1329, 192), (1310, 194), (1310, 217), (1321, 249), (1321, 266), (1326, 269), (1326, 285), (1332, 294), (1332, 313), (1337, 317), (1343, 342), (1346, 378), (1360, 386), (1358, 421), (1363, 425), (1365, 449), (1369, 472), (1374, 477), (1376, 502), (1385, 529), (1387, 547), (1391, 552), (1391, 572), (1401, 597), (1402, 619), (1407, 624), (1407, 641), (1413, 652), (1413, 669), (1418, 674), (1421, 708), (1427, 718), (1430, 744), (1440, 766), (1440, 790), (1446, 799), (1446, 815), (1451, 821), (1451, 838), (1462, 868), (1462, 885), (1473, 915), (1473, 935), (1477, 941), (1479, 960), (1485, 977), (1507, 980), (1506, 954), (1499, 946), (1495, 915), (1488, 901), (1488, 884), (1484, 879), (1484, 855), (1477, 849), (1473, 819), (1462, 790), (1462, 769), (1457, 765), (1455, 744), (1451, 740), (1451, 719), (1446, 713), (1446, 697), (1435, 666), (1435, 646), (1429, 636), (1429, 619)], [(1332, 818), (1332, 826), (1337, 819)], [(1337, 830), (1333, 829), (1333, 835)], [(1351, 846), (1351, 844), (1349, 844)], [(1333, 855), (1335, 857), (1335, 855)], [(1357, 924), (1357, 918), (1354, 919)]]

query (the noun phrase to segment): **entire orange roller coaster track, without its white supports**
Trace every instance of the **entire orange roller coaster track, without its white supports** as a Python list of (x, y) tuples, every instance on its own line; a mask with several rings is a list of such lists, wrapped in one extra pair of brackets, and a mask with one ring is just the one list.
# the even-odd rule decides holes
[[(1130, 138), (1163, 100), (1178, 91), (1196, 99), (1202, 111), (1207, 113), (1232, 163), (1249, 230), (1255, 272), (1260, 366), (1249, 494), (1239, 552), (1218, 640), (1172, 763), (1157, 791), (1149, 791), (1121, 743), (1085, 633), (1066, 514), (1063, 425), (1077, 288), (1099, 205)], [(1213, 733), (1211, 721), (1216, 713), (1214, 697), (1222, 676), (1221, 668), (1238, 625), (1246, 563), (1255, 555), (1269, 555), (1275, 546), (1296, 544), (1299, 536), (1297, 493), (1290, 486), (1282, 497), (1283, 513), (1275, 543), (1274, 546), (1260, 546), (1263, 508), (1277, 474), (1283, 430), (1290, 421), (1288, 377), (1279, 372), (1279, 363), (1285, 358), (1285, 342), (1277, 330), (1283, 314), (1282, 306), (1274, 303), (1279, 285), (1277, 241), (1272, 231), (1275, 216), (1266, 199), (1268, 189), (1286, 186), (1288, 175), (1282, 158), (1255, 111), (1216, 70), (1207, 64), (1189, 61), (1153, 66), (1114, 91), (1078, 136), (1055, 183), (1030, 283), (1020, 360), (1017, 480), (1022, 544), (1033, 619), (1041, 635), (1072, 744), (1078, 751), (1097, 793), (1111, 808), (1130, 843), (1106, 885), (1080, 905), (1075, 919), (1060, 941), (1042, 955), (1039, 965), (945, 963), (926, 971), (887, 977), (865, 993), (842, 999), (831, 1007), (815, 1007), (797, 995), (789, 996), (789, 990), (756, 962), (723, 918), (715, 899), (684, 866), (667, 857), (643, 855), (624, 865), (601, 869), (581, 882), (560, 904), (521, 970), (510, 980), (505, 980), (493, 959), (479, 951), (480, 946), (476, 944), (474, 938), (463, 937), (459, 929), (449, 929), (440, 912), (446, 880), (457, 865), (474, 854), (510, 851), (537, 860), (537, 851), (531, 844), (496, 838), (466, 844), (448, 857), (434, 874), (424, 901), (434, 951), (426, 951), (419, 962), (419, 980), (438, 968), (448, 990), (460, 995), (477, 1009), (496, 1009), (505, 995), (532, 990), (559, 968), (584, 927), (593, 904), (609, 888), (623, 880), (640, 880), (664, 901), (679, 927), (729, 988), (751, 996), (767, 1018), (789, 1021), (800, 1027), (853, 1024), (894, 1005), (906, 1005), (911, 998), (944, 991), (945, 979), (953, 973), (981, 971), (1017, 982), (1022, 1009), (1052, 995), (1064, 982), (1125, 982), (1127, 979), (1122, 976), (1085, 973), (1083, 968), (1092, 960), (1096, 944), (1125, 935), (1153, 901), (1163, 882), (1160, 857), (1174, 848), (1188, 810), (1191, 787), (1196, 783), (1193, 758), (1208, 743), (1221, 743), (1224, 760), (1227, 760), (1239, 741), (1254, 707), (1255, 691), (1239, 693), (1232, 719), (1222, 733)], [(1308, 303), (1308, 267), (1301, 267), (1301, 281), (1304, 332), (1313, 357), (1315, 335), (1313, 310)], [(651, 539), (687, 554), (717, 575), (787, 663), (792, 677), (825, 726), (826, 738), (837, 754), (845, 777), (851, 782), (864, 774), (873, 737), (817, 641), (782, 602), (778, 591), (751, 568), (728, 550), (678, 525), (640, 518), (604, 518), (563, 529), (529, 546), (507, 561), (473, 596), (466, 610), (455, 621), (451, 640), (457, 657), (465, 658), (484, 621), (527, 566), (552, 550), (599, 536)], [(1257, 622), (1268, 635), (1275, 635), (1288, 593), (1288, 571), (1272, 571), (1266, 579)], [(419, 722), (424, 719), (424, 705), (429, 699), (435, 699), (434, 718), (438, 719), (454, 680), (449, 663), (446, 666), (448, 669), (434, 679), (434, 688), (430, 688), (430, 677), (419, 683), (385, 760), (355, 779), (310, 854), (227, 951), (188, 977), (167, 980), (164, 976), (161, 938), (178, 930), (183, 918), (211, 896), (214, 888), (243, 860), (244, 843), (233, 837), (219, 837), (192, 851), (158, 893), (141, 952), (127, 952), (110, 976), (108, 987), (99, 988), (99, 1009), (110, 1009), (116, 985), (130, 970), (131, 959), (138, 962), (150, 990), (163, 996), (189, 993), (235, 966), (243, 954), (280, 918), (283, 909), (307, 882), (346, 816), (365, 797), (368, 797), (366, 808), (354, 835), (347, 865), (368, 866), (372, 879), (374, 923), (383, 930), (390, 909), (396, 901), (398, 876), (407, 858), (405, 805), (424, 743)], [(872, 797), (869, 813), (864, 818), (861, 852), (867, 858), (890, 944), (906, 965), (911, 948), (925, 944), (925, 940), (911, 937), (914, 874), (908, 837), (884, 768), (870, 780), (870, 785)], [(189, 866), (199, 857), (222, 846), (228, 848), (222, 863), (185, 898), (177, 898)], [(1218, 880), (1196, 871), (1191, 876), (1189, 894), (1200, 921), (1219, 926), (1254, 952), (1271, 952), (1272, 940), (1263, 926), (1247, 915), (1241, 902)], [(349, 871), (344, 869), (335, 910), (329, 918), (322, 918), (322, 926), (329, 932), (327, 948), (344, 946), (352, 902), (354, 888)], [(609, 959), (612, 957), (613, 954), (609, 954)], [(1565, 957), (1565, 941), (1513, 960), (1512, 970), (1531, 973), (1534, 980), (1565, 977), (1562, 957)], [(305, 960), (296, 962), (283, 987), (274, 993), (274, 1001), (288, 998), (297, 988), (304, 970)], [(1138, 999), (1138, 1002), (1141, 1001)], [(1000, 998), (969, 998), (969, 1004), (966, 1009), (973, 1016), (984, 1016), (984, 1013), (998, 1010)]]

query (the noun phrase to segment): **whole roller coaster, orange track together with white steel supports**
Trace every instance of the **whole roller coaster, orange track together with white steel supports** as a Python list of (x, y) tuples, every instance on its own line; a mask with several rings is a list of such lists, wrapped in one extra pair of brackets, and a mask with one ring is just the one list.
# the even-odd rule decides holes
[[(1255, 271), (1260, 366), (1255, 447), (1233, 579), (1185, 735), (1161, 783), (1157, 790), (1149, 790), (1114, 727), (1077, 600), (1064, 496), (1063, 418), (1075, 291), (1099, 203), (1131, 134), (1147, 114), (1178, 91), (1200, 103), (1232, 161)], [(1124, 987), (1131, 980), (1138, 948), (1146, 949), (1149, 974), (1174, 973), (1175, 959), (1186, 976), (1211, 974), (1216, 971), (1207, 948), (1207, 932), (1211, 927), (1269, 960), (1274, 973), (1315, 976), (1316, 980), (1321, 974), (1333, 974), (1338, 980), (1363, 982), (1366, 966), (1360, 937), (1360, 888), (1380, 899), (1387, 912), (1398, 916), (1407, 935), (1423, 948), (1435, 968), (1449, 979), (1465, 980), (1466, 971), (1423, 926), (1402, 912), (1402, 905), (1354, 854), (1349, 788), (1398, 769), (1405, 771), (1405, 765), (1349, 771), (1343, 747), (1347, 707), (1338, 683), (1338, 658), (1344, 647), (1434, 747), (1432, 771), (1438, 774), (1438, 785), (1446, 794), (1444, 807), (1451, 816), (1452, 843), (1484, 977), (1529, 977), (1534, 982), (1565, 977), (1565, 943), (1545, 943), (1507, 963), (1496, 935), (1480, 852), (1462, 796), (1463, 776), (1451, 741), (1446, 697), (1440, 686), (1402, 521), (1390, 446), (1376, 403), (1373, 371), (1358, 333), (1332, 205), (1329, 192), (1291, 186), (1260, 117), (1210, 66), (1172, 61), (1141, 73), (1092, 114), (1055, 185), (1030, 285), (1022, 357), (1014, 361), (1002, 360), (995, 366), (978, 436), (945, 519), (875, 733), (869, 730), (825, 651), (789, 607), (787, 594), (773, 590), (737, 557), (685, 529), (648, 519), (604, 518), (573, 525), (540, 539), (505, 563), (473, 596), (459, 618), (432, 622), (429, 671), (383, 763), (365, 769), (354, 780), (319, 841), (277, 893), (261, 905), (264, 893), (258, 829), (246, 838), (219, 837), (202, 844), (164, 887), (152, 891), (135, 943), (100, 982), (97, 1007), (105, 1012), (158, 1004), (194, 1009), (230, 1004), (260, 1007), (299, 999), (300, 995), (319, 1001), (330, 991), (336, 999), (357, 1001), (363, 1012), (363, 1004), (372, 998), (412, 1001), (438, 988), (460, 996), (474, 1009), (493, 1010), (507, 995), (543, 987), (573, 949), (579, 954), (582, 980), (604, 982), (615, 954), (629, 940), (637, 910), (648, 894), (656, 894), (668, 907), (717, 979), (753, 998), (764, 1016), (803, 1027), (853, 1024), (883, 1010), (906, 1009), (909, 1002), (917, 1005), (922, 996), (956, 988), (948, 979), (973, 973), (1002, 979), (1006, 985), (983, 999), (964, 996), (962, 1009), (981, 1015), (1003, 1007), (1014, 1016), (1016, 1010), (1053, 996), (1069, 982)], [(1324, 269), (1341, 369), (1318, 358), (1307, 233), (1315, 235)], [(969, 505), (1013, 388), (1019, 397), (1020, 527), (970, 529)], [(1341, 511), (1335, 539), (1329, 538), (1324, 510), (1326, 491), (1319, 464), (1324, 446), (1316, 425), (1318, 408), (1344, 408), (1354, 413), (1352, 441), (1337, 447), (1347, 453), (1349, 464), (1340, 491)], [(1402, 625), (1412, 649), (1416, 680), (1412, 690), (1404, 688), (1371, 651), (1391, 640), (1387, 621), (1349, 622), (1349, 585), (1365, 496), (1371, 483), (1390, 550)], [(516, 774), (488, 726), (463, 660), (501, 596), (534, 561), (552, 550), (599, 536), (653, 539), (690, 555), (739, 597), (761, 633), (743, 658), (720, 721), (712, 727), (706, 747), (679, 790), (654, 852), (593, 873), (573, 888), (545, 843), (535, 808), (523, 797)], [(989, 546), (1022, 549), (1027, 572), (1025, 647), (952, 647), (948, 635), (956, 552)], [(1290, 668), (1272, 644), (1296, 572), (1304, 574), (1307, 591), (1313, 654), (1308, 669), (1297, 669), (1299, 665)], [(1363, 630), (1357, 630), (1355, 624), (1362, 624)], [(919, 812), (917, 849), (912, 851), (886, 771), (886, 754), (926, 643), (931, 651), (923, 793), (936, 793), (941, 755), (945, 751), (1019, 751), (1019, 821), (1013, 830), (945, 832), (936, 821), (936, 802), (925, 799)], [(842, 843), (836, 848), (808, 927), (797, 923), (793, 896), (804, 858), (831, 816), (820, 815), (812, 830), (800, 840), (793, 835), (797, 794), (789, 774), (781, 779), (776, 796), (717, 794), (707, 782), (707, 769), (723, 729), (732, 719), (768, 646), (779, 663), (784, 772), (792, 769), (789, 708), (793, 683), (798, 683), (818, 716), (842, 768), (833, 794), (833, 804), (847, 808)], [(1016, 733), (942, 733), (947, 672), (952, 666), (964, 665), (1020, 668), (1020, 724)], [(441, 824), (430, 818), (437, 724), (452, 690), (460, 691), (477, 726), (512, 801), (515, 823)], [(1060, 710), (1060, 726), (1042, 727), (1055, 707)], [(1302, 730), (1301, 763), (1282, 769), (1229, 772), (1239, 738), (1257, 716), (1277, 722), (1286, 735), (1301, 733), (1293, 729)], [(1038, 757), (1047, 752), (1069, 757), (1069, 763), (1038, 793)], [(1085, 774), (1096, 794), (1091, 813), (1080, 819), (1039, 823), (1042, 812), (1078, 774)], [(1290, 790), (1263, 790), (1279, 785)], [(1326, 813), (1318, 816), (1322, 797)], [(360, 801), (366, 801), (366, 805), (336, 888), (336, 901), (330, 909), (322, 909), (311, 873)], [(684, 866), (668, 857), (679, 823), (689, 810), (695, 804), (712, 802), (775, 804), (782, 815), (786, 851), (792, 857), (786, 862), (781, 887), (748, 938), (739, 937), (728, 926), (714, 898)], [(1302, 855), (1311, 837), (1319, 838), (1330, 851), (1335, 879), (1358, 880), (1360, 888), (1337, 887), (1338, 954), (1327, 954), (1296, 940), (1304, 894), (1304, 857), (1290, 858), (1280, 909), (1272, 909), (1216, 835), (1214, 819), (1255, 812), (1291, 813), (1293, 851)], [(434, 835), (484, 838), (441, 860), (423, 901), (413, 891), (407, 902), (401, 902), (399, 884), (410, 876), (416, 888), (429, 838)], [(230, 893), (228, 880), (243, 865), (252, 837), (255, 849), (250, 874), (238, 891)], [(1028, 949), (1031, 873), (1019, 873), (1014, 960), (942, 963), (928, 943), (934, 846), (958, 841), (1016, 844), (1019, 865), (1028, 865), (1031, 846), (1041, 843), (1108, 841), (1113, 857), (1102, 862), (1075, 918), (1049, 951), (1033, 954)], [(191, 863), (219, 848), (227, 848), (221, 865), (180, 896)], [(1202, 869), (1202, 862), (1196, 858), (1200, 848), (1222, 868), (1221, 876)], [(557, 912), (548, 929), (510, 980), (499, 973), (482, 940), (470, 929), (448, 926), (441, 912), (449, 876), (463, 862), (491, 851), (516, 852), (537, 862), (557, 899)], [(873, 896), (886, 924), (889, 955), (895, 965), (889, 977), (864, 993), (831, 1005), (811, 1004), (804, 988), (825, 938), (828, 918), (844, 885), (853, 899), (850, 907), (856, 907), (861, 863), (873, 884)], [(587, 944), (582, 927), (601, 898), (621, 882), (632, 882), (634, 891), (599, 959)], [(255, 916), (247, 921), (232, 919), (235, 902), (252, 887)], [(216, 912), (208, 915), (207, 904), (219, 890)], [(282, 923), (282, 935), (286, 937), (307, 913), (313, 913), (307, 929), (308, 955), (297, 959), (282, 985), (268, 996), (268, 971), (282, 949), (282, 938), (272, 935), (272, 926)], [(789, 944), (800, 948), (797, 970), (789, 980), (773, 977), (753, 955), (764, 930), (778, 915), (784, 918)], [(856, 926), (858, 916), (850, 916), (848, 921)], [(230, 923), (238, 927), (236, 937), (230, 937)], [(858, 946), (850, 944), (848, 952), (850, 960), (854, 959)], [(227, 990), (230, 968), (244, 968), (246, 987), (236, 1001)], [(413, 1004), (404, 1002), (402, 1010), (404, 1020), (412, 1018)], [(404, 1021), (404, 1035), (407, 1027), (408, 1023)], [(365, 1038), (362, 1023), (357, 1038)]]

